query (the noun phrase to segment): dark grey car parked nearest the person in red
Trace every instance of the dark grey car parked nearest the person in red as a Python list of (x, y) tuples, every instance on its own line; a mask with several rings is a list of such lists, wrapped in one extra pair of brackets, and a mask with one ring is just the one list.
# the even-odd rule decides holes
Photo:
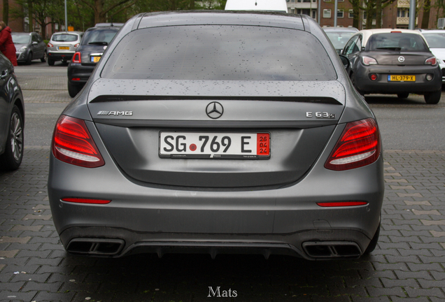
[(46, 44), (39, 34), (35, 32), (13, 32), (11, 36), (13, 36), (17, 62), (31, 64), (34, 59), (46, 62)]

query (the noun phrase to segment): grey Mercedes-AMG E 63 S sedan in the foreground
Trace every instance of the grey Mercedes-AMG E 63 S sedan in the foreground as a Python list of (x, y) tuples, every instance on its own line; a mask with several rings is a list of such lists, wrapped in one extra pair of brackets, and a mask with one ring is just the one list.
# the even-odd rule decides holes
[(372, 252), (381, 138), (345, 64), (304, 15), (132, 17), (55, 126), (48, 193), (64, 247)]

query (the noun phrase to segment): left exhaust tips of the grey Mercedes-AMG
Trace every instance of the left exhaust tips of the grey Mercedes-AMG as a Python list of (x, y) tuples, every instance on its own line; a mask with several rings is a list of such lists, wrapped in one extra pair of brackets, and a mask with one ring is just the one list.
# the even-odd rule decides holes
[(74, 238), (66, 250), (72, 254), (97, 256), (113, 256), (118, 254), (125, 245), (122, 239)]

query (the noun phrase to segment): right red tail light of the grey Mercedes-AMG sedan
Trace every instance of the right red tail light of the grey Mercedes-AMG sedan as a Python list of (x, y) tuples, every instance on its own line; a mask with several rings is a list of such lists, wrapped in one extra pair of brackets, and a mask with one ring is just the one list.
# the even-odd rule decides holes
[(367, 166), (379, 158), (380, 151), (379, 127), (374, 119), (350, 122), (346, 124), (325, 168), (344, 171)]

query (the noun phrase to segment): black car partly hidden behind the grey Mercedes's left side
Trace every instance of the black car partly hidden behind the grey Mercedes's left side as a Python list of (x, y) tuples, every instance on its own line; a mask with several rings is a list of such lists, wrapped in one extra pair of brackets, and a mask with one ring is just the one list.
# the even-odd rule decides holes
[(68, 66), (68, 92), (74, 97), (85, 86), (108, 43), (123, 23), (99, 23), (85, 31), (77, 52)]

